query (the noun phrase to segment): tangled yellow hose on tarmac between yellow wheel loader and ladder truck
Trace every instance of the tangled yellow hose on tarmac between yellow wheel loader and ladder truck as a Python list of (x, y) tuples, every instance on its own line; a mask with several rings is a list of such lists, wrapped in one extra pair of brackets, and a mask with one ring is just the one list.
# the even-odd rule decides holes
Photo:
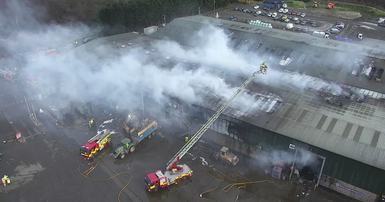
[(212, 199), (205, 198), (205, 197), (203, 197), (202, 195), (203, 195), (203, 194), (207, 194), (208, 192), (212, 192), (212, 191), (218, 189), (218, 187), (219, 187), (219, 182), (220, 182), (220, 181), (224, 181), (223, 176), (226, 177), (227, 179), (231, 180), (231, 181), (236, 181), (236, 180), (238, 180), (236, 177), (240, 177), (240, 178), (243, 178), (244, 180), (247, 180), (247, 181), (248, 181), (248, 182), (237, 182), (237, 183), (232, 183), (232, 184), (227, 185), (226, 187), (223, 187), (223, 191), (224, 191), (224, 192), (228, 192), (228, 191), (231, 189), (231, 187), (234, 187), (234, 186), (237, 186), (237, 187), (238, 187), (238, 188), (237, 188), (238, 194), (237, 194), (237, 197), (236, 197), (236, 199), (235, 199), (235, 202), (238, 201), (238, 197), (239, 197), (239, 189), (240, 189), (240, 188), (244, 188), (244, 187), (246, 187), (248, 184), (254, 184), (254, 183), (259, 183), (259, 182), (269, 182), (269, 183), (273, 183), (273, 182), (271, 182), (271, 181), (269, 181), (269, 180), (251, 181), (251, 180), (247, 179), (246, 177), (243, 177), (243, 176), (237, 175), (237, 174), (230, 174), (230, 177), (229, 177), (228, 175), (223, 174), (221, 171), (219, 171), (219, 170), (213, 168), (213, 171), (214, 171), (215, 174), (218, 176), (218, 177), (216, 177), (216, 176), (214, 176), (213, 174), (211, 174), (210, 172), (208, 172), (202, 165), (199, 165), (198, 167), (199, 167), (201, 170), (203, 170), (206, 174), (208, 174), (210, 177), (212, 177), (214, 180), (216, 180), (216, 182), (217, 182), (216, 187), (214, 187), (213, 189), (207, 190), (207, 191), (205, 191), (205, 192), (202, 192), (201, 195), (200, 195), (200, 197), (201, 197), (202, 199), (209, 200), (209, 201), (211, 201), (211, 202), (216, 202), (216, 201), (215, 201), (215, 200), (212, 200)]

